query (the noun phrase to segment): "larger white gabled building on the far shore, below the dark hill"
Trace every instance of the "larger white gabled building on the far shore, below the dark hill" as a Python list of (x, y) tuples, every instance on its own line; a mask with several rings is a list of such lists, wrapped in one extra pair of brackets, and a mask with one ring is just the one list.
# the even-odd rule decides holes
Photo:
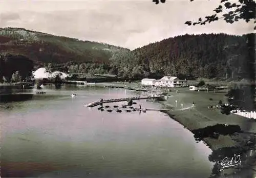
[(187, 85), (186, 80), (180, 80), (177, 76), (164, 76), (159, 80), (154, 81), (155, 86), (161, 87), (183, 87)]

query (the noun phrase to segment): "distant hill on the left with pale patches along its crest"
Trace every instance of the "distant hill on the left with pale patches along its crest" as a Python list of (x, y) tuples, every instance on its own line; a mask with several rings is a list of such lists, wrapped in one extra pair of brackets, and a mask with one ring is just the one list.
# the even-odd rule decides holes
[(69, 61), (106, 63), (109, 62), (111, 53), (120, 49), (124, 48), (23, 28), (0, 28), (1, 53), (23, 55), (34, 64), (60, 64)]

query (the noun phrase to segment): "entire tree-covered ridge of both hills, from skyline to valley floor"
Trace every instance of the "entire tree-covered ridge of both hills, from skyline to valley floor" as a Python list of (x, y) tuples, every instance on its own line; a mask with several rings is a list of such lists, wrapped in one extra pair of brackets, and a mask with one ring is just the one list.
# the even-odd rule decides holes
[[(242, 36), (185, 34), (130, 51), (105, 43), (79, 41), (23, 28), (0, 28), (0, 50), (2, 54), (29, 58), (36, 65), (34, 69), (50, 66), (71, 73), (231, 80), (255, 75), (255, 33)], [(254, 63), (248, 63), (248, 58), (254, 58)]]

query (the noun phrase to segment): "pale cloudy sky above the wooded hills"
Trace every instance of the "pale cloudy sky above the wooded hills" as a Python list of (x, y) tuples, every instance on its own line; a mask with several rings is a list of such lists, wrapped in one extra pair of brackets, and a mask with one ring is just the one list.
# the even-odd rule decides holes
[(0, 27), (20, 27), (131, 50), (182, 34), (253, 32), (244, 21), (187, 26), (211, 15), (219, 0), (0, 0)]

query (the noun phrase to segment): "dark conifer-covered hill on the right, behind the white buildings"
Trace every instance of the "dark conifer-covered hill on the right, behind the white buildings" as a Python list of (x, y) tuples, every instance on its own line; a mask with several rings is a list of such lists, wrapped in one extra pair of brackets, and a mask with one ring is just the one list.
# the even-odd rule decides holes
[[(253, 45), (249, 47), (248, 39), (254, 42), (255, 34), (171, 37), (133, 50), (130, 57), (121, 60), (119, 73), (132, 71), (132, 75), (142, 73), (152, 77), (248, 78), (250, 72), (254, 73), (252, 66), (255, 65), (255, 50)], [(249, 57), (254, 58), (252, 64), (246, 60)], [(113, 66), (119, 66), (120, 60), (114, 62)]]

